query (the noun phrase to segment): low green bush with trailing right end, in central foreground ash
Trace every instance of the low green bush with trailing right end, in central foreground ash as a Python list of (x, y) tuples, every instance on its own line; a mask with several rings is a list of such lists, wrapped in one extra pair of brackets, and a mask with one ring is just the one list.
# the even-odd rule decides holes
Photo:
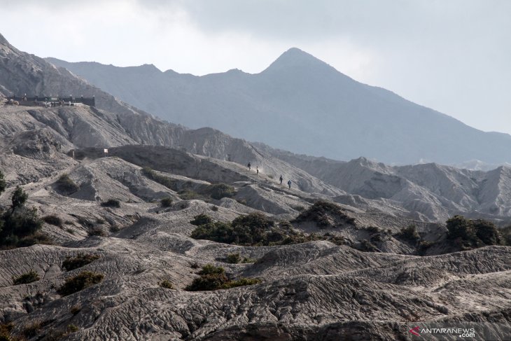
[(200, 277), (195, 278), (192, 284), (186, 286), (186, 291), (212, 291), (234, 288), (235, 286), (258, 284), (261, 282), (260, 279), (249, 278), (230, 280), (225, 275), (225, 269), (223, 267), (216, 267), (211, 264), (204, 265), (198, 274), (200, 274)]

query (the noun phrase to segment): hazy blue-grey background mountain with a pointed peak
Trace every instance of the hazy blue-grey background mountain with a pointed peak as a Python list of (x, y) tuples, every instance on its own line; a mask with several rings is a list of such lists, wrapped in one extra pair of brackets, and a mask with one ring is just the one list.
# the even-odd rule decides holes
[(259, 74), (235, 69), (193, 76), (153, 65), (47, 60), (171, 122), (214, 127), (295, 153), (398, 164), (511, 161), (509, 135), (473, 129), (393, 92), (358, 83), (297, 48)]

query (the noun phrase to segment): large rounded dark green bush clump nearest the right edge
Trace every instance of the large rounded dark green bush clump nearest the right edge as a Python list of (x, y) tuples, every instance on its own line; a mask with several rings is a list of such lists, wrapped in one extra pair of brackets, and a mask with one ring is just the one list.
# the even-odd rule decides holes
[(490, 221), (453, 216), (446, 222), (446, 225), (447, 240), (461, 250), (505, 244), (505, 239)]

